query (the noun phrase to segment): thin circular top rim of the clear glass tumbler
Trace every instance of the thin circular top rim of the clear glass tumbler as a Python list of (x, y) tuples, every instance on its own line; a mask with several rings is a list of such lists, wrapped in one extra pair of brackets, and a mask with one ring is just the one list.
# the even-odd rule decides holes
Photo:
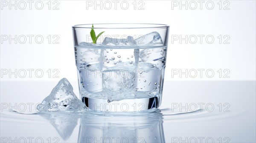
[[(154, 28), (169, 28), (166, 24), (154, 24), (154, 23), (95, 23), (93, 25), (135, 25), (134, 27), (93, 27), (93, 29), (154, 29)], [(141, 26), (140, 26), (141, 25)], [(143, 25), (148, 25), (148, 27), (143, 27)], [(73, 29), (91, 29), (92, 24), (79, 24), (72, 26)], [(137, 26), (137, 27), (136, 27)]]

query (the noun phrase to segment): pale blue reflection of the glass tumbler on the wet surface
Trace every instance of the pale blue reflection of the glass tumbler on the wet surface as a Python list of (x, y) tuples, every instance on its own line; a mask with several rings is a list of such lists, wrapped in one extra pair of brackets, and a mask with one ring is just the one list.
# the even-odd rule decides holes
[(137, 115), (81, 118), (78, 143), (165, 143), (160, 110)]

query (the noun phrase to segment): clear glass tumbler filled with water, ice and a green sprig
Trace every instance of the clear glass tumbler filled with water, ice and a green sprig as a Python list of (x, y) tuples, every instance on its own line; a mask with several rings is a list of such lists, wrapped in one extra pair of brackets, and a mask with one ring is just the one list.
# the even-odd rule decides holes
[(96, 112), (154, 111), (161, 104), (169, 26), (73, 26), (79, 93)]

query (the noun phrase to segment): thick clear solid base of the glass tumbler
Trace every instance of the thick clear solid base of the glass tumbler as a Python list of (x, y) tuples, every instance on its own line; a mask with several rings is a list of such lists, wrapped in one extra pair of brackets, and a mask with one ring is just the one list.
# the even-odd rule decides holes
[(82, 102), (92, 112), (154, 112), (159, 97), (132, 98), (108, 103), (107, 99), (82, 97)]

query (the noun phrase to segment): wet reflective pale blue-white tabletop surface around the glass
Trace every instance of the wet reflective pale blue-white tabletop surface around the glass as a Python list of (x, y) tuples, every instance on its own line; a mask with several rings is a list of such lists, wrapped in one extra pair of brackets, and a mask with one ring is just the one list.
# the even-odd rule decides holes
[(165, 81), (160, 109), (139, 114), (35, 114), (56, 82), (20, 83), (1, 82), (3, 143), (256, 142), (255, 81)]

